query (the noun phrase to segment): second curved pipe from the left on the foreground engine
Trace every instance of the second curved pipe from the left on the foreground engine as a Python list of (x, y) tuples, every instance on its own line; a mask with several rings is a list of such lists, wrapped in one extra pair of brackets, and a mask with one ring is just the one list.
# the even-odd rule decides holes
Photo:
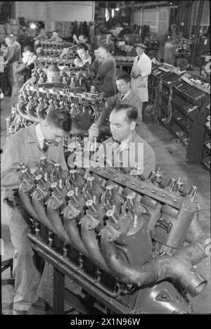
[(32, 205), (34, 207), (37, 216), (39, 217), (39, 221), (44, 224), (49, 230), (53, 233), (57, 233), (56, 228), (53, 227), (49, 217), (46, 215), (46, 210), (44, 207), (44, 195), (41, 195), (37, 189), (32, 193)]

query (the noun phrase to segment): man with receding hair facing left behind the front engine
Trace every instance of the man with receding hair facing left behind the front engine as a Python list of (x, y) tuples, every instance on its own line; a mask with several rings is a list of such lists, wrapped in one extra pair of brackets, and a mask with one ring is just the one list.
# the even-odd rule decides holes
[[(146, 179), (155, 170), (155, 152), (147, 141), (136, 134), (137, 117), (138, 112), (134, 106), (115, 106), (109, 117), (112, 136), (102, 144), (98, 143), (98, 151), (91, 160), (96, 159), (99, 167), (122, 167), (125, 173), (141, 174)], [(95, 128), (89, 129), (86, 150), (95, 151), (94, 138), (97, 136)], [(88, 158), (89, 155), (88, 152), (84, 157)]]

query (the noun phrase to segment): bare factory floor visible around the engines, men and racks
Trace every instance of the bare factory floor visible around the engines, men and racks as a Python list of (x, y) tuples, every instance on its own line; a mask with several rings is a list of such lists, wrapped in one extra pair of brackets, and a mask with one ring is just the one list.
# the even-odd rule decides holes
[[(4, 97), (1, 100), (1, 149), (6, 141), (6, 121), (5, 118), (11, 112), (11, 98)], [(181, 175), (181, 181), (184, 182), (185, 188), (188, 190), (191, 185), (198, 187), (197, 200), (203, 211), (200, 212), (200, 223), (203, 229), (210, 232), (210, 175), (203, 169), (200, 164), (188, 164), (186, 162), (186, 149), (177, 141), (169, 132), (160, 124), (141, 124), (137, 127), (137, 132), (155, 150), (157, 169), (164, 181), (171, 177), (177, 179)], [(4, 253), (2, 252), (2, 260), (13, 257), (13, 246), (11, 244), (10, 232), (8, 228), (8, 211), (6, 205), (2, 202), (1, 195), (1, 238), (4, 240)], [(198, 272), (207, 278), (207, 286), (200, 295), (188, 298), (193, 307), (193, 314), (210, 314), (211, 313), (211, 291), (210, 291), (210, 257), (207, 257), (198, 264)], [(3, 278), (9, 276), (9, 271), (3, 273)], [(77, 289), (77, 285), (72, 285), (72, 289)], [(12, 314), (14, 290), (10, 285), (2, 287), (2, 309), (3, 314)], [(52, 305), (53, 301), (53, 276), (52, 266), (45, 265), (44, 275), (39, 285), (38, 294), (46, 299)], [(52, 309), (49, 310), (52, 314)], [(41, 311), (31, 308), (28, 314), (45, 314)]]

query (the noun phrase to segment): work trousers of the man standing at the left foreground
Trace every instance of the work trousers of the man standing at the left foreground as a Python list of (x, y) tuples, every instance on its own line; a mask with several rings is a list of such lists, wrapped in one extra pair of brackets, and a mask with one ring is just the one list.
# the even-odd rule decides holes
[(13, 257), (13, 276), (15, 277), (15, 297), (13, 309), (28, 311), (37, 302), (37, 288), (41, 273), (35, 266), (32, 243), (27, 238), (30, 232), (30, 216), (20, 205), (11, 209), (11, 241), (15, 249)]

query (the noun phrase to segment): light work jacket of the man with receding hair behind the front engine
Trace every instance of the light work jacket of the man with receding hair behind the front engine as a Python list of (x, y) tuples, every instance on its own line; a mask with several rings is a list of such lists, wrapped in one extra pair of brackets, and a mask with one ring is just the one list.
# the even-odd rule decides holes
[[(103, 143), (98, 143), (98, 150), (93, 155), (89, 153), (89, 151), (94, 151), (90, 149), (91, 145), (93, 143), (91, 144), (87, 138), (83, 157), (78, 154), (75, 160), (77, 167), (120, 167), (121, 164), (125, 172), (136, 175), (135, 168), (137, 168), (139, 174), (145, 178), (155, 170), (155, 152), (147, 141), (136, 134), (136, 131), (132, 131), (132, 134), (120, 145), (114, 141), (113, 137)], [(90, 155), (91, 160), (89, 160)]]

